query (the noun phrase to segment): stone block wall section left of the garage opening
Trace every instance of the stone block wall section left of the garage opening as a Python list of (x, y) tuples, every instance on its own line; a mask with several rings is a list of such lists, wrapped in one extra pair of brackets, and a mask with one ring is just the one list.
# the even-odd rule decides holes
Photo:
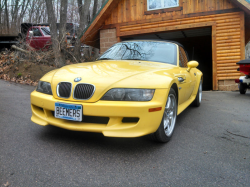
[(116, 29), (104, 29), (100, 31), (100, 53), (104, 53), (112, 45), (117, 43)]

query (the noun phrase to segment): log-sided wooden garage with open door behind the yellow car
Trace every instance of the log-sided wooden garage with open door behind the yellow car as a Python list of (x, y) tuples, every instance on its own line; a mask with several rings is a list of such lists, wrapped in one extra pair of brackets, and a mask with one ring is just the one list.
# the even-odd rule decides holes
[(235, 90), (250, 40), (245, 0), (107, 0), (81, 41), (100, 48), (130, 39), (174, 40), (199, 62), (205, 90)]

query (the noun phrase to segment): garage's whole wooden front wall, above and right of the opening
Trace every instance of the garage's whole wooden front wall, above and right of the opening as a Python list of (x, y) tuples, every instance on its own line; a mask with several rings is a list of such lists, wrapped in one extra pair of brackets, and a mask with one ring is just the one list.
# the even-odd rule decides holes
[[(245, 16), (229, 0), (179, 0), (179, 10), (150, 11), (146, 0), (120, 0), (105, 21), (120, 37), (199, 27), (212, 27), (213, 90), (234, 90), (245, 58)], [(171, 8), (169, 9), (171, 10)]]

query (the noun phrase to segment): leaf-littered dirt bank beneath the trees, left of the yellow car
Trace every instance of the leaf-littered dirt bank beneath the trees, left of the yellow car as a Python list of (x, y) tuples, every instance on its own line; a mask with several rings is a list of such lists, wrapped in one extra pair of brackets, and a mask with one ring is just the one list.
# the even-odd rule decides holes
[[(72, 51), (65, 53), (66, 64), (76, 63), (72, 58)], [(99, 53), (98, 53), (99, 54)], [(89, 58), (82, 58), (81, 62), (96, 59), (93, 51)], [(36, 86), (39, 79), (47, 72), (56, 69), (52, 50), (32, 50), (20, 45), (16, 50), (0, 49), (0, 79)]]

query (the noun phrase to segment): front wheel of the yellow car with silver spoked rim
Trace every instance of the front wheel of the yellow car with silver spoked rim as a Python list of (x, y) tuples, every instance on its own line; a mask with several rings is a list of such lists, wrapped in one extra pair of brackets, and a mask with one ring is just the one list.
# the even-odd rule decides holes
[(154, 141), (166, 143), (174, 132), (177, 117), (177, 97), (173, 88), (170, 89), (161, 124), (157, 131), (151, 134)]

